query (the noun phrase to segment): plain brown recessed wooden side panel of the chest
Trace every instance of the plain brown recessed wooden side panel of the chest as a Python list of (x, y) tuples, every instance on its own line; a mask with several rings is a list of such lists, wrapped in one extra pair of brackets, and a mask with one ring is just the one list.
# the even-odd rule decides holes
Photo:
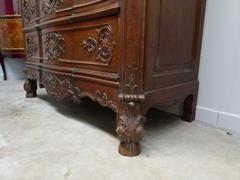
[(157, 89), (196, 79), (204, 5), (205, 0), (149, 1), (146, 78), (154, 81), (146, 80), (147, 87)]

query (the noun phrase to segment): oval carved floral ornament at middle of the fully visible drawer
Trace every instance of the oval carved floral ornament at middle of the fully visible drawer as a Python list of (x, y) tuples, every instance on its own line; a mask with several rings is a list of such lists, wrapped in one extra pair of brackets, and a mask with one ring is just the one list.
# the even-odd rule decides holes
[(48, 59), (57, 60), (59, 56), (65, 53), (64, 38), (60, 33), (48, 33), (44, 46)]

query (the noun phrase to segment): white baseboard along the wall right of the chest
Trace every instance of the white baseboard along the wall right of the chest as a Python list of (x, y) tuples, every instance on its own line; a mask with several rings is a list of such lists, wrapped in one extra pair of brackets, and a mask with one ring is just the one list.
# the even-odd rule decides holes
[(240, 116), (236, 114), (197, 106), (196, 120), (232, 133), (240, 133)]

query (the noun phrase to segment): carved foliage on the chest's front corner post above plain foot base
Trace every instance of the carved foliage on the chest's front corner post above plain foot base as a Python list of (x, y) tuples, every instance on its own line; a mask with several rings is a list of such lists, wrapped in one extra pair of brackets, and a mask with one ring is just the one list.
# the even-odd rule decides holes
[(138, 143), (144, 136), (145, 117), (143, 115), (144, 94), (138, 94), (138, 68), (127, 66), (124, 93), (119, 95), (120, 113), (117, 118), (116, 133), (123, 143)]

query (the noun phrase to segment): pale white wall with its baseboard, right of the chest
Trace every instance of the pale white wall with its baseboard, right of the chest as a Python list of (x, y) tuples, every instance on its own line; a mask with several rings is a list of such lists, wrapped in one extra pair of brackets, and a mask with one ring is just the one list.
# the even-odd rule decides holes
[(240, 0), (207, 0), (197, 120), (240, 132)]

